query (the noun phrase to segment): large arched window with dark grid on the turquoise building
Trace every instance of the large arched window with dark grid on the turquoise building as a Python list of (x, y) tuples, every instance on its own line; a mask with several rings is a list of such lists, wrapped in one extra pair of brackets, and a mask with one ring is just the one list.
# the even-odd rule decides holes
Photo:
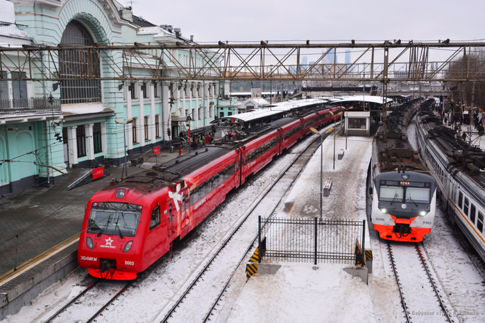
[[(79, 21), (67, 24), (60, 44), (69, 46), (92, 46), (95, 44), (90, 32)], [(60, 78), (99, 78), (99, 56), (94, 51), (77, 49), (60, 52)], [(60, 101), (62, 104), (101, 102), (101, 81), (62, 80), (60, 81)]]

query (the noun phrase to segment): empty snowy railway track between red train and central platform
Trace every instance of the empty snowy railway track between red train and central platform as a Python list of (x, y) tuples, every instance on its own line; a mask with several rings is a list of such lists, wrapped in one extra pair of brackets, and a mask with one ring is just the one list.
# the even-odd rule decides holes
[[(209, 261), (206, 261), (194, 279), (185, 285), (185, 290), (176, 295), (173, 302), (169, 304), (169, 310), (162, 311), (156, 320), (157, 322), (207, 322), (210, 320), (216, 306), (223, 299), (223, 294), (226, 292), (237, 268), (254, 248), (257, 235), (254, 234), (255, 221), (250, 220), (255, 220), (258, 213), (271, 216), (282, 207), (287, 191), (320, 146), (320, 141), (317, 139), (318, 137), (315, 136), (307, 148), (300, 152), (280, 172), (273, 184), (239, 218), (237, 225), (233, 226), (232, 230), (226, 234), (223, 242), (214, 250)], [(293, 168), (293, 171), (291, 171), (291, 168)], [(275, 195), (278, 198), (275, 198)], [(246, 247), (244, 247), (245, 245)], [(229, 254), (238, 254), (241, 257), (234, 259), (234, 257), (228, 256)], [(228, 263), (228, 258), (232, 258), (230, 263)], [(207, 288), (208, 284), (201, 283), (201, 281), (210, 281), (210, 287)], [(201, 299), (200, 295), (204, 295), (204, 299)], [(185, 304), (189, 305), (185, 306)], [(201, 313), (205, 314), (201, 316)]]

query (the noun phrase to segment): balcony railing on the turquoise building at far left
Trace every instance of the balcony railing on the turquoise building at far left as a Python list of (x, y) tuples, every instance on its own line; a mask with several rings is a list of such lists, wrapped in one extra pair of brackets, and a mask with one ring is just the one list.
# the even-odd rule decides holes
[(60, 114), (58, 98), (14, 98), (0, 100), (0, 118), (35, 114)]

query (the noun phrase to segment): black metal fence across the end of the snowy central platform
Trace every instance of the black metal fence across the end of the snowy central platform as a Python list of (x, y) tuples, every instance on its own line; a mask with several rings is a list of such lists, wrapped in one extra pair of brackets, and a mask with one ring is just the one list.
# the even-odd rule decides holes
[(366, 221), (259, 217), (259, 262), (363, 261)]

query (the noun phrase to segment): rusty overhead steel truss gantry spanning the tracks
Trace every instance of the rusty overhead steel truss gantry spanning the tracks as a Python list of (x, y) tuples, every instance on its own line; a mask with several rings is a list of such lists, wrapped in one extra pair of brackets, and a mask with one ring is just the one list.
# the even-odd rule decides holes
[[(484, 82), (485, 61), (470, 55), (485, 42), (384, 42), (382, 44), (133, 44), (0, 47), (3, 71), (22, 80), (273, 80)], [(349, 64), (337, 52), (358, 56)], [(181, 60), (178, 53), (186, 53)], [(70, 60), (73, 53), (83, 64)], [(301, 64), (303, 55), (313, 62)], [(332, 59), (333, 55), (333, 59)], [(197, 59), (199, 58), (199, 60)], [(202, 58), (202, 59), (200, 59)], [(329, 63), (333, 62), (333, 63)], [(100, 63), (101, 66), (100, 67)], [(60, 71), (69, 71), (69, 76)], [(15, 80), (12, 75), (12, 80)]]

